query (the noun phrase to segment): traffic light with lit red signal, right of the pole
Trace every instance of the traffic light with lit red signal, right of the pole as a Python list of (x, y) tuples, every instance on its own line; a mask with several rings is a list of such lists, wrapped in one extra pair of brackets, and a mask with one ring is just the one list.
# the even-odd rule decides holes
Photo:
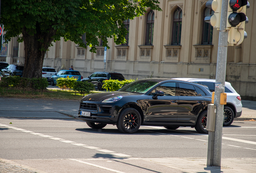
[(246, 9), (250, 7), (247, 0), (229, 0), (227, 11), (227, 30), (229, 46), (239, 45), (247, 38), (245, 24), (248, 23)]

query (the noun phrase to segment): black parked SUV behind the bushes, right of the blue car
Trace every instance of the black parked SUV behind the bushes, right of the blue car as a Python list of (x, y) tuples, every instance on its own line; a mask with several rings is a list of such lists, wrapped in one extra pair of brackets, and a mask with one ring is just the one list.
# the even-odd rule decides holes
[(124, 76), (119, 72), (94, 72), (88, 78), (83, 78), (81, 81), (92, 82), (96, 89), (103, 90), (103, 80), (125, 80)]

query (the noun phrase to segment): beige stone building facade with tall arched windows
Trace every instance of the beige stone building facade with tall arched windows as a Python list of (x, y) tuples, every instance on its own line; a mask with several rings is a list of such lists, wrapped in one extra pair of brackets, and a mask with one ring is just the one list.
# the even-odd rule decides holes
[[(256, 2), (248, 1), (248, 38), (239, 46), (228, 47), (226, 81), (231, 82), (242, 99), (256, 99)], [(127, 79), (215, 79), (219, 31), (204, 22), (205, 16), (213, 14), (205, 6), (207, 0), (159, 2), (161, 12), (147, 9), (144, 16), (124, 21), (128, 30), (126, 44), (116, 45), (112, 38), (108, 39), (106, 71), (121, 72)], [(104, 71), (104, 47), (97, 46), (97, 53), (89, 49), (62, 38), (49, 48), (43, 65), (57, 71), (73, 65), (83, 77)], [(8, 44), (6, 62), (22, 64), (24, 57), (24, 44), (13, 38)]]

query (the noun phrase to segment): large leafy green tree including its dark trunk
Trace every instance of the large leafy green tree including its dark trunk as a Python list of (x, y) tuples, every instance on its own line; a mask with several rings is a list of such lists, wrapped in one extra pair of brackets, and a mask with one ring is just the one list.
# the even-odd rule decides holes
[(7, 42), (15, 36), (24, 42), (23, 77), (41, 78), (43, 58), (52, 42), (63, 37), (86, 48), (81, 39), (86, 33), (91, 52), (99, 45), (97, 37), (102, 36), (107, 48), (107, 38), (124, 43), (123, 21), (143, 15), (147, 8), (161, 10), (158, 0), (2, 0), (1, 23)]

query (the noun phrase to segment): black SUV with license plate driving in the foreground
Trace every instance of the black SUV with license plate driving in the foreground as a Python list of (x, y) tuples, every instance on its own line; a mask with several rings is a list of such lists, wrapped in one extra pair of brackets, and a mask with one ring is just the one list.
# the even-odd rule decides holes
[(208, 133), (207, 106), (211, 97), (208, 87), (201, 84), (141, 79), (118, 91), (85, 96), (75, 117), (93, 129), (116, 125), (122, 133), (134, 133), (140, 125), (166, 129), (194, 127), (198, 133)]

